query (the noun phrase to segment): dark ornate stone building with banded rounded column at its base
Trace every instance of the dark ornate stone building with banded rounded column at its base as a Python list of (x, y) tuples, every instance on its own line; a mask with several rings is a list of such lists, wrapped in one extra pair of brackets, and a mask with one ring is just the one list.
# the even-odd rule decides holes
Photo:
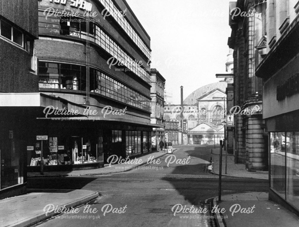
[[(236, 16), (234, 10), (237, 8), (252, 13), (252, 16)], [(262, 117), (262, 79), (255, 76), (266, 36), (263, 28), (265, 10), (263, 1), (238, 0), (230, 3), (231, 36), (228, 46), (234, 50), (234, 106), (238, 106), (233, 111), (235, 161), (244, 163), (248, 171), (268, 169), (268, 136)]]

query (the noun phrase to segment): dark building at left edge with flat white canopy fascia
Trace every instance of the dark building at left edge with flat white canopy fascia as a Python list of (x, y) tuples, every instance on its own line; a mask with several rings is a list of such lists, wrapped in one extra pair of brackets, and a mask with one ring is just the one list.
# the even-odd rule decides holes
[(0, 199), (26, 191), (27, 132), (35, 117), (30, 98), (38, 92), (37, 25), (36, 1), (0, 0)]

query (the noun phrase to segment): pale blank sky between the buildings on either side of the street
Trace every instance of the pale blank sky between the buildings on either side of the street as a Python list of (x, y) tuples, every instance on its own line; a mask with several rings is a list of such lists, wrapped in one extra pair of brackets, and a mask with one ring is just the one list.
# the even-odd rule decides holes
[[(194, 90), (219, 81), (228, 54), (228, 0), (126, 0), (151, 38), (152, 64), (166, 92), (180, 104)], [(231, 0), (232, 1), (232, 0)]]

